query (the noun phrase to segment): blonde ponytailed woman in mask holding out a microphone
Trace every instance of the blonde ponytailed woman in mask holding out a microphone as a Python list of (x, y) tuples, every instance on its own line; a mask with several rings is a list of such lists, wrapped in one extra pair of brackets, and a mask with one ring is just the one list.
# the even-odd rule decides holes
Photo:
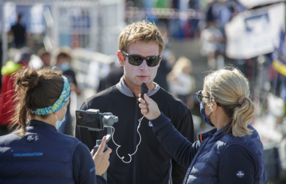
[(203, 90), (196, 94), (202, 117), (215, 128), (193, 144), (176, 131), (155, 101), (146, 94), (145, 100), (139, 99), (160, 144), (188, 167), (183, 183), (266, 183), (263, 145), (250, 125), (255, 107), (247, 78), (236, 68), (218, 69), (204, 78)]

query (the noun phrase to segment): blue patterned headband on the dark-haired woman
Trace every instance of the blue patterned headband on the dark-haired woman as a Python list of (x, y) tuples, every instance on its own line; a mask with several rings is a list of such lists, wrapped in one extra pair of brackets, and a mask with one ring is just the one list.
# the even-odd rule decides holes
[(68, 79), (65, 76), (63, 77), (63, 91), (61, 92), (61, 96), (54, 102), (54, 105), (47, 108), (31, 108), (32, 114), (35, 115), (48, 115), (52, 112), (57, 112), (63, 108), (68, 101), (68, 97), (70, 97), (70, 85), (68, 84)]

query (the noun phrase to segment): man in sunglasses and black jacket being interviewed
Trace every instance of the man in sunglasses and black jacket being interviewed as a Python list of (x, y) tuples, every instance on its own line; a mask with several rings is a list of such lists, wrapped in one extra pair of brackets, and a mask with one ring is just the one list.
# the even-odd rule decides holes
[[(183, 136), (194, 141), (193, 118), (186, 104), (153, 82), (164, 48), (165, 37), (155, 24), (144, 20), (128, 25), (119, 35), (117, 56), (124, 68), (121, 80), (82, 104), (82, 110), (99, 109), (119, 117), (114, 124), (114, 139), (107, 143), (114, 150), (107, 170), (108, 184), (183, 182), (186, 167), (172, 160), (153, 134), (153, 125), (148, 119), (141, 119), (138, 107), (141, 85), (146, 83), (147, 95), (158, 103)], [(106, 131), (88, 131), (82, 127), (77, 127), (75, 132), (89, 149), (93, 149), (103, 135)]]

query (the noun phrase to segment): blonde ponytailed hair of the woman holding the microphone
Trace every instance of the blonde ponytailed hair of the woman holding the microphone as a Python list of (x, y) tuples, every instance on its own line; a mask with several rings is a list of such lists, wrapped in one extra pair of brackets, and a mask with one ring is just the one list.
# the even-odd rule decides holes
[(255, 107), (250, 99), (248, 79), (239, 69), (227, 66), (211, 72), (204, 78), (204, 90), (232, 119), (230, 128), (234, 136), (253, 132), (247, 126), (253, 121)]

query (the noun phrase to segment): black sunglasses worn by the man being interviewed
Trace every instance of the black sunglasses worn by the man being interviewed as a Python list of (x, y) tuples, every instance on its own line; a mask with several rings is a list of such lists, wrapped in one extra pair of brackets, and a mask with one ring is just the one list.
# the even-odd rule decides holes
[(142, 57), (139, 55), (130, 55), (126, 53), (125, 51), (122, 51), (124, 56), (128, 57), (128, 62), (131, 65), (139, 66), (142, 64), (143, 60), (146, 60), (148, 67), (155, 67), (158, 65), (160, 61), (160, 55), (159, 56), (148, 56), (148, 57)]

